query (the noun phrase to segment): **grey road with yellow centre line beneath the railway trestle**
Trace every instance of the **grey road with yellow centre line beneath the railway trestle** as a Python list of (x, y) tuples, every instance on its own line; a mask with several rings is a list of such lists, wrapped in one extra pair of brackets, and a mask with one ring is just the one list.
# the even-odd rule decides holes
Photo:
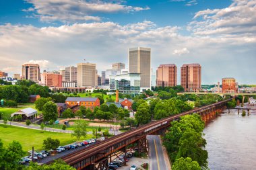
[(162, 151), (162, 144), (158, 135), (148, 135), (148, 148), (151, 170), (168, 170)]

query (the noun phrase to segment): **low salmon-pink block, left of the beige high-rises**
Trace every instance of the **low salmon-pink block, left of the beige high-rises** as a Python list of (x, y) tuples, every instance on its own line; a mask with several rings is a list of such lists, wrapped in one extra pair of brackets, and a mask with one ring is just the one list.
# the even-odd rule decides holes
[(44, 72), (41, 79), (41, 83), (48, 87), (62, 87), (62, 75), (60, 74)]

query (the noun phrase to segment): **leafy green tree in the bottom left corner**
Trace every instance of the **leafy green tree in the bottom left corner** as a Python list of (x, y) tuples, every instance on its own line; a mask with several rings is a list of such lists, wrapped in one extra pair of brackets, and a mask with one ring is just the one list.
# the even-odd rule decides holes
[(13, 140), (4, 148), (0, 139), (0, 169), (21, 169), (19, 161), (24, 155), (20, 142)]

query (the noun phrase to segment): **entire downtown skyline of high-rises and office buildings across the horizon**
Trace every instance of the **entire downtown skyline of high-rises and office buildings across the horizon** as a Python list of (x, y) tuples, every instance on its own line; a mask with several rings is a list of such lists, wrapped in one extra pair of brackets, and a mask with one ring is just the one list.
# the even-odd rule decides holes
[[(111, 69), (98, 74), (95, 63), (82, 62), (76, 66), (65, 67), (60, 71), (43, 71), (38, 64), (22, 65), (22, 75), (13, 74), (13, 79), (26, 79), (46, 85), (55, 91), (84, 92), (86, 89), (119, 90), (121, 93), (141, 93), (151, 87), (177, 86), (177, 66), (162, 64), (156, 70), (151, 68), (150, 48), (129, 48), (128, 67), (125, 63), (113, 63)], [(0, 71), (0, 78), (7, 73)], [(9, 80), (9, 79), (7, 79)], [(14, 81), (15, 83), (15, 81)], [(201, 65), (185, 64), (181, 67), (181, 86), (185, 91), (201, 91)], [(237, 92), (238, 84), (234, 78), (222, 79), (216, 87), (220, 92)]]

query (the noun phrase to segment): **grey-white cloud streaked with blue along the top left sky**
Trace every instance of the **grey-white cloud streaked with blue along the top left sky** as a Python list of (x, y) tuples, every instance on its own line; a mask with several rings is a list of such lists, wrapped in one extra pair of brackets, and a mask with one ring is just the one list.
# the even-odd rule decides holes
[(149, 10), (150, 7), (133, 7), (124, 5), (123, 1), (99, 1), (99, 0), (26, 0), (34, 7), (23, 11), (34, 11), (33, 17), (39, 17), (42, 22), (77, 22), (100, 21), (100, 17), (94, 13), (137, 12)]

